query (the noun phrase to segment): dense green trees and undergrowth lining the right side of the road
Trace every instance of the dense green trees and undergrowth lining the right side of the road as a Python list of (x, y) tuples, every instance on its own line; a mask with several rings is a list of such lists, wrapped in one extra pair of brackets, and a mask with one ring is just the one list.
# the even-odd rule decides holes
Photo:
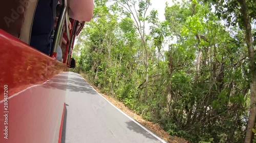
[(74, 71), (170, 135), (255, 141), (256, 1), (168, 3), (95, 0)]

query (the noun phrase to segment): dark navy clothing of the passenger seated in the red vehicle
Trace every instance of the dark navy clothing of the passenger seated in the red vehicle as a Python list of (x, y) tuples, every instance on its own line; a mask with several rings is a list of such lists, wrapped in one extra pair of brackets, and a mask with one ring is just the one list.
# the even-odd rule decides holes
[(51, 52), (50, 37), (56, 16), (53, 15), (53, 3), (57, 4), (57, 0), (38, 0), (30, 39), (32, 47), (47, 55)]

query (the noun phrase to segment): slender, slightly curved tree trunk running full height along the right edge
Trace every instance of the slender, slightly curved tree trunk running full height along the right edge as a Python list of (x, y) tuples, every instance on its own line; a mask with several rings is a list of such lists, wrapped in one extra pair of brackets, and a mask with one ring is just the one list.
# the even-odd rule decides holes
[(238, 1), (241, 5), (241, 13), (243, 16), (243, 24), (245, 27), (245, 41), (248, 48), (249, 55), (249, 70), (250, 70), (250, 113), (249, 120), (247, 123), (247, 130), (245, 135), (245, 143), (250, 143), (252, 141), (252, 128), (254, 127), (255, 117), (256, 117), (256, 70), (255, 70), (255, 60), (254, 60), (254, 49), (252, 42), (252, 33), (251, 33), (251, 19), (247, 12), (247, 5), (245, 0)]

